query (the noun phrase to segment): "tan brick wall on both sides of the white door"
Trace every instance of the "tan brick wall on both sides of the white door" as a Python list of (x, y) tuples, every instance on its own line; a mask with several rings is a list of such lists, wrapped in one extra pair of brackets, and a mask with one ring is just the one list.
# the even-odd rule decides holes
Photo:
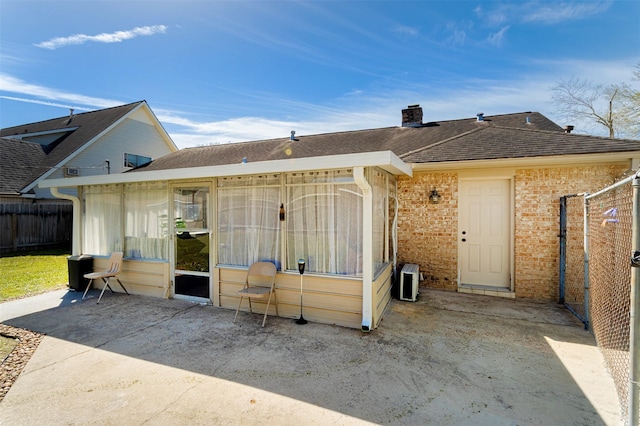
[[(531, 168), (515, 171), (516, 297), (557, 300), (559, 199), (595, 192), (624, 166)], [(429, 203), (436, 188), (439, 204)], [(420, 265), (422, 285), (457, 290), (458, 175), (416, 173), (398, 180), (398, 262)]]

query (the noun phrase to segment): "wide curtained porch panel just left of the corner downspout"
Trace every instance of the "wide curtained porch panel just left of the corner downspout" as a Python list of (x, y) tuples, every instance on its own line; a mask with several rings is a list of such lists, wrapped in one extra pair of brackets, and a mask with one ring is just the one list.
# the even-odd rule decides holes
[(362, 195), (351, 170), (287, 175), (287, 267), (362, 275)]

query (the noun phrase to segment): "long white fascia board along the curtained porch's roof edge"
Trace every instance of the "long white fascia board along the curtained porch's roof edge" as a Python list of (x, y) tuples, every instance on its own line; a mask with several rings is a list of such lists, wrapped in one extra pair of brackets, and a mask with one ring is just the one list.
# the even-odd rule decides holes
[(181, 169), (129, 172), (114, 175), (97, 175), (44, 180), (41, 188), (104, 185), (169, 181), (180, 179), (202, 179), (225, 176), (244, 176), (262, 173), (288, 173), (306, 170), (343, 169), (348, 167), (380, 167), (394, 175), (412, 176), (411, 166), (405, 164), (391, 151), (365, 152), (358, 154), (327, 155), (321, 157), (290, 158), (285, 160), (257, 161), (254, 163), (225, 164), (221, 166), (187, 167)]

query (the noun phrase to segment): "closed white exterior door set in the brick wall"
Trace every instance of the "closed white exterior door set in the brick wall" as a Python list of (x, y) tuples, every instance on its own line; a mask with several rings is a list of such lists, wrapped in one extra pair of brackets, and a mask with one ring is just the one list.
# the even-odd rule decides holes
[(509, 179), (460, 181), (459, 284), (510, 287), (510, 201)]

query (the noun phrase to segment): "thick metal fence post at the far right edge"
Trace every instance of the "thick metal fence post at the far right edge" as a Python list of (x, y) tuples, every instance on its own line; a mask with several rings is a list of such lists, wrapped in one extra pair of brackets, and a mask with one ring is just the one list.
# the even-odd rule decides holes
[(633, 179), (631, 306), (629, 318), (629, 425), (640, 424), (640, 177)]

